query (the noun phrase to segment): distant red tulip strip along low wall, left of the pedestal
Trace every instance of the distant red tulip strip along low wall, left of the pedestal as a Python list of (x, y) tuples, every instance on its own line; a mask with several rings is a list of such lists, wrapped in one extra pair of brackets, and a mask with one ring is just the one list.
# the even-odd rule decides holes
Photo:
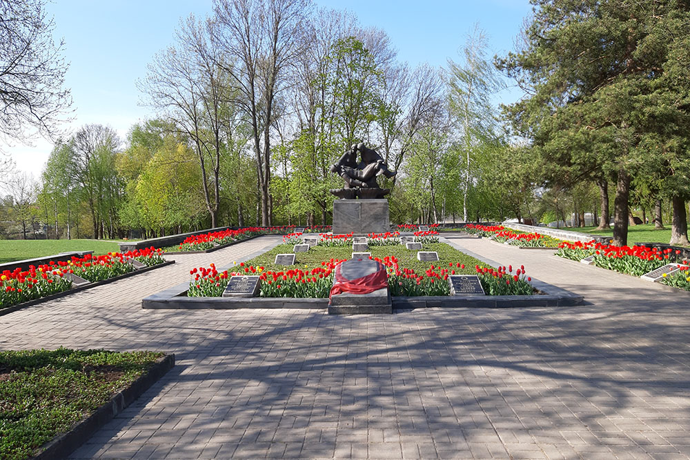
[[(276, 234), (288, 232), (293, 235), (295, 239), (298, 234), (293, 232), (295, 226), (280, 226), (280, 227), (246, 227), (239, 230), (219, 230), (217, 232), (208, 232), (202, 234), (195, 234), (187, 237), (177, 246), (168, 246), (163, 248), (164, 252), (188, 252), (188, 251), (206, 251), (215, 248), (215, 246), (223, 246), (224, 244), (232, 243), (233, 241), (241, 241), (259, 234)], [(327, 232), (331, 226), (311, 226), (304, 229), (304, 233)], [(301, 235), (302, 232), (299, 232)], [(301, 240), (300, 240), (301, 241)], [(297, 243), (293, 243), (297, 244)]]

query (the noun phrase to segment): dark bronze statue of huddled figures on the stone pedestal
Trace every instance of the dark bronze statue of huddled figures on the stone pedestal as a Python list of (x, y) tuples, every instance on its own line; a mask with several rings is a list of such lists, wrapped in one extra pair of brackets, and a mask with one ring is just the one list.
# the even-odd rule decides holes
[[(362, 161), (357, 163), (357, 151)], [(387, 188), (380, 188), (376, 177), (384, 174), (386, 177), (395, 176), (396, 172), (388, 169), (380, 154), (364, 143), (353, 144), (348, 152), (331, 166), (331, 172), (337, 173), (345, 180), (345, 188), (335, 188), (331, 193), (343, 199), (383, 198), (391, 192)]]

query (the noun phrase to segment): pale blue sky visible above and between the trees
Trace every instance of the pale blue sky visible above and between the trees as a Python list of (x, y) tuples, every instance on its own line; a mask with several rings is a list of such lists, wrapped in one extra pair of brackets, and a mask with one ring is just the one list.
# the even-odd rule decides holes
[[(467, 34), (478, 23), (489, 36), (492, 54), (513, 49), (528, 0), (316, 0), (318, 6), (354, 12), (362, 26), (382, 28), (397, 48), (398, 59), (411, 67), (422, 62), (440, 67), (446, 59), (460, 61)], [(181, 17), (210, 14), (211, 1), (179, 0), (54, 0), (55, 36), (66, 41), (70, 63), (66, 85), (72, 89), (76, 130), (85, 123), (112, 126), (124, 140), (133, 123), (153, 115), (139, 106), (135, 82), (146, 74), (153, 55), (172, 43)], [(520, 92), (509, 88), (501, 100), (511, 102)], [(52, 143), (37, 138), (34, 146), (0, 146), (20, 170), (38, 177)]]

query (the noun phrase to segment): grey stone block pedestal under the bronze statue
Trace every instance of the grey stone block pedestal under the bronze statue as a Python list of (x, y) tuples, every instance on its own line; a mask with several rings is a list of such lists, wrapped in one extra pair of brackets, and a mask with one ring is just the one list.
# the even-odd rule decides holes
[(333, 234), (385, 233), (391, 231), (387, 199), (333, 201)]

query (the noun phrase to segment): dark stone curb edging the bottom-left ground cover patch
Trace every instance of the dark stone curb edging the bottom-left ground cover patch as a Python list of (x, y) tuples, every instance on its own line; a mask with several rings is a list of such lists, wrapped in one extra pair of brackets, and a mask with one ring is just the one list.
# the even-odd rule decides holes
[(167, 354), (159, 359), (152, 368), (133, 381), (130, 386), (115, 394), (110, 401), (99, 407), (88, 418), (77, 422), (65, 434), (43, 444), (44, 450), (36, 457), (37, 460), (64, 459), (86, 442), (97, 430), (103, 427), (117, 414), (144, 394), (154, 383), (163, 377), (168, 370), (175, 366), (175, 354)]

